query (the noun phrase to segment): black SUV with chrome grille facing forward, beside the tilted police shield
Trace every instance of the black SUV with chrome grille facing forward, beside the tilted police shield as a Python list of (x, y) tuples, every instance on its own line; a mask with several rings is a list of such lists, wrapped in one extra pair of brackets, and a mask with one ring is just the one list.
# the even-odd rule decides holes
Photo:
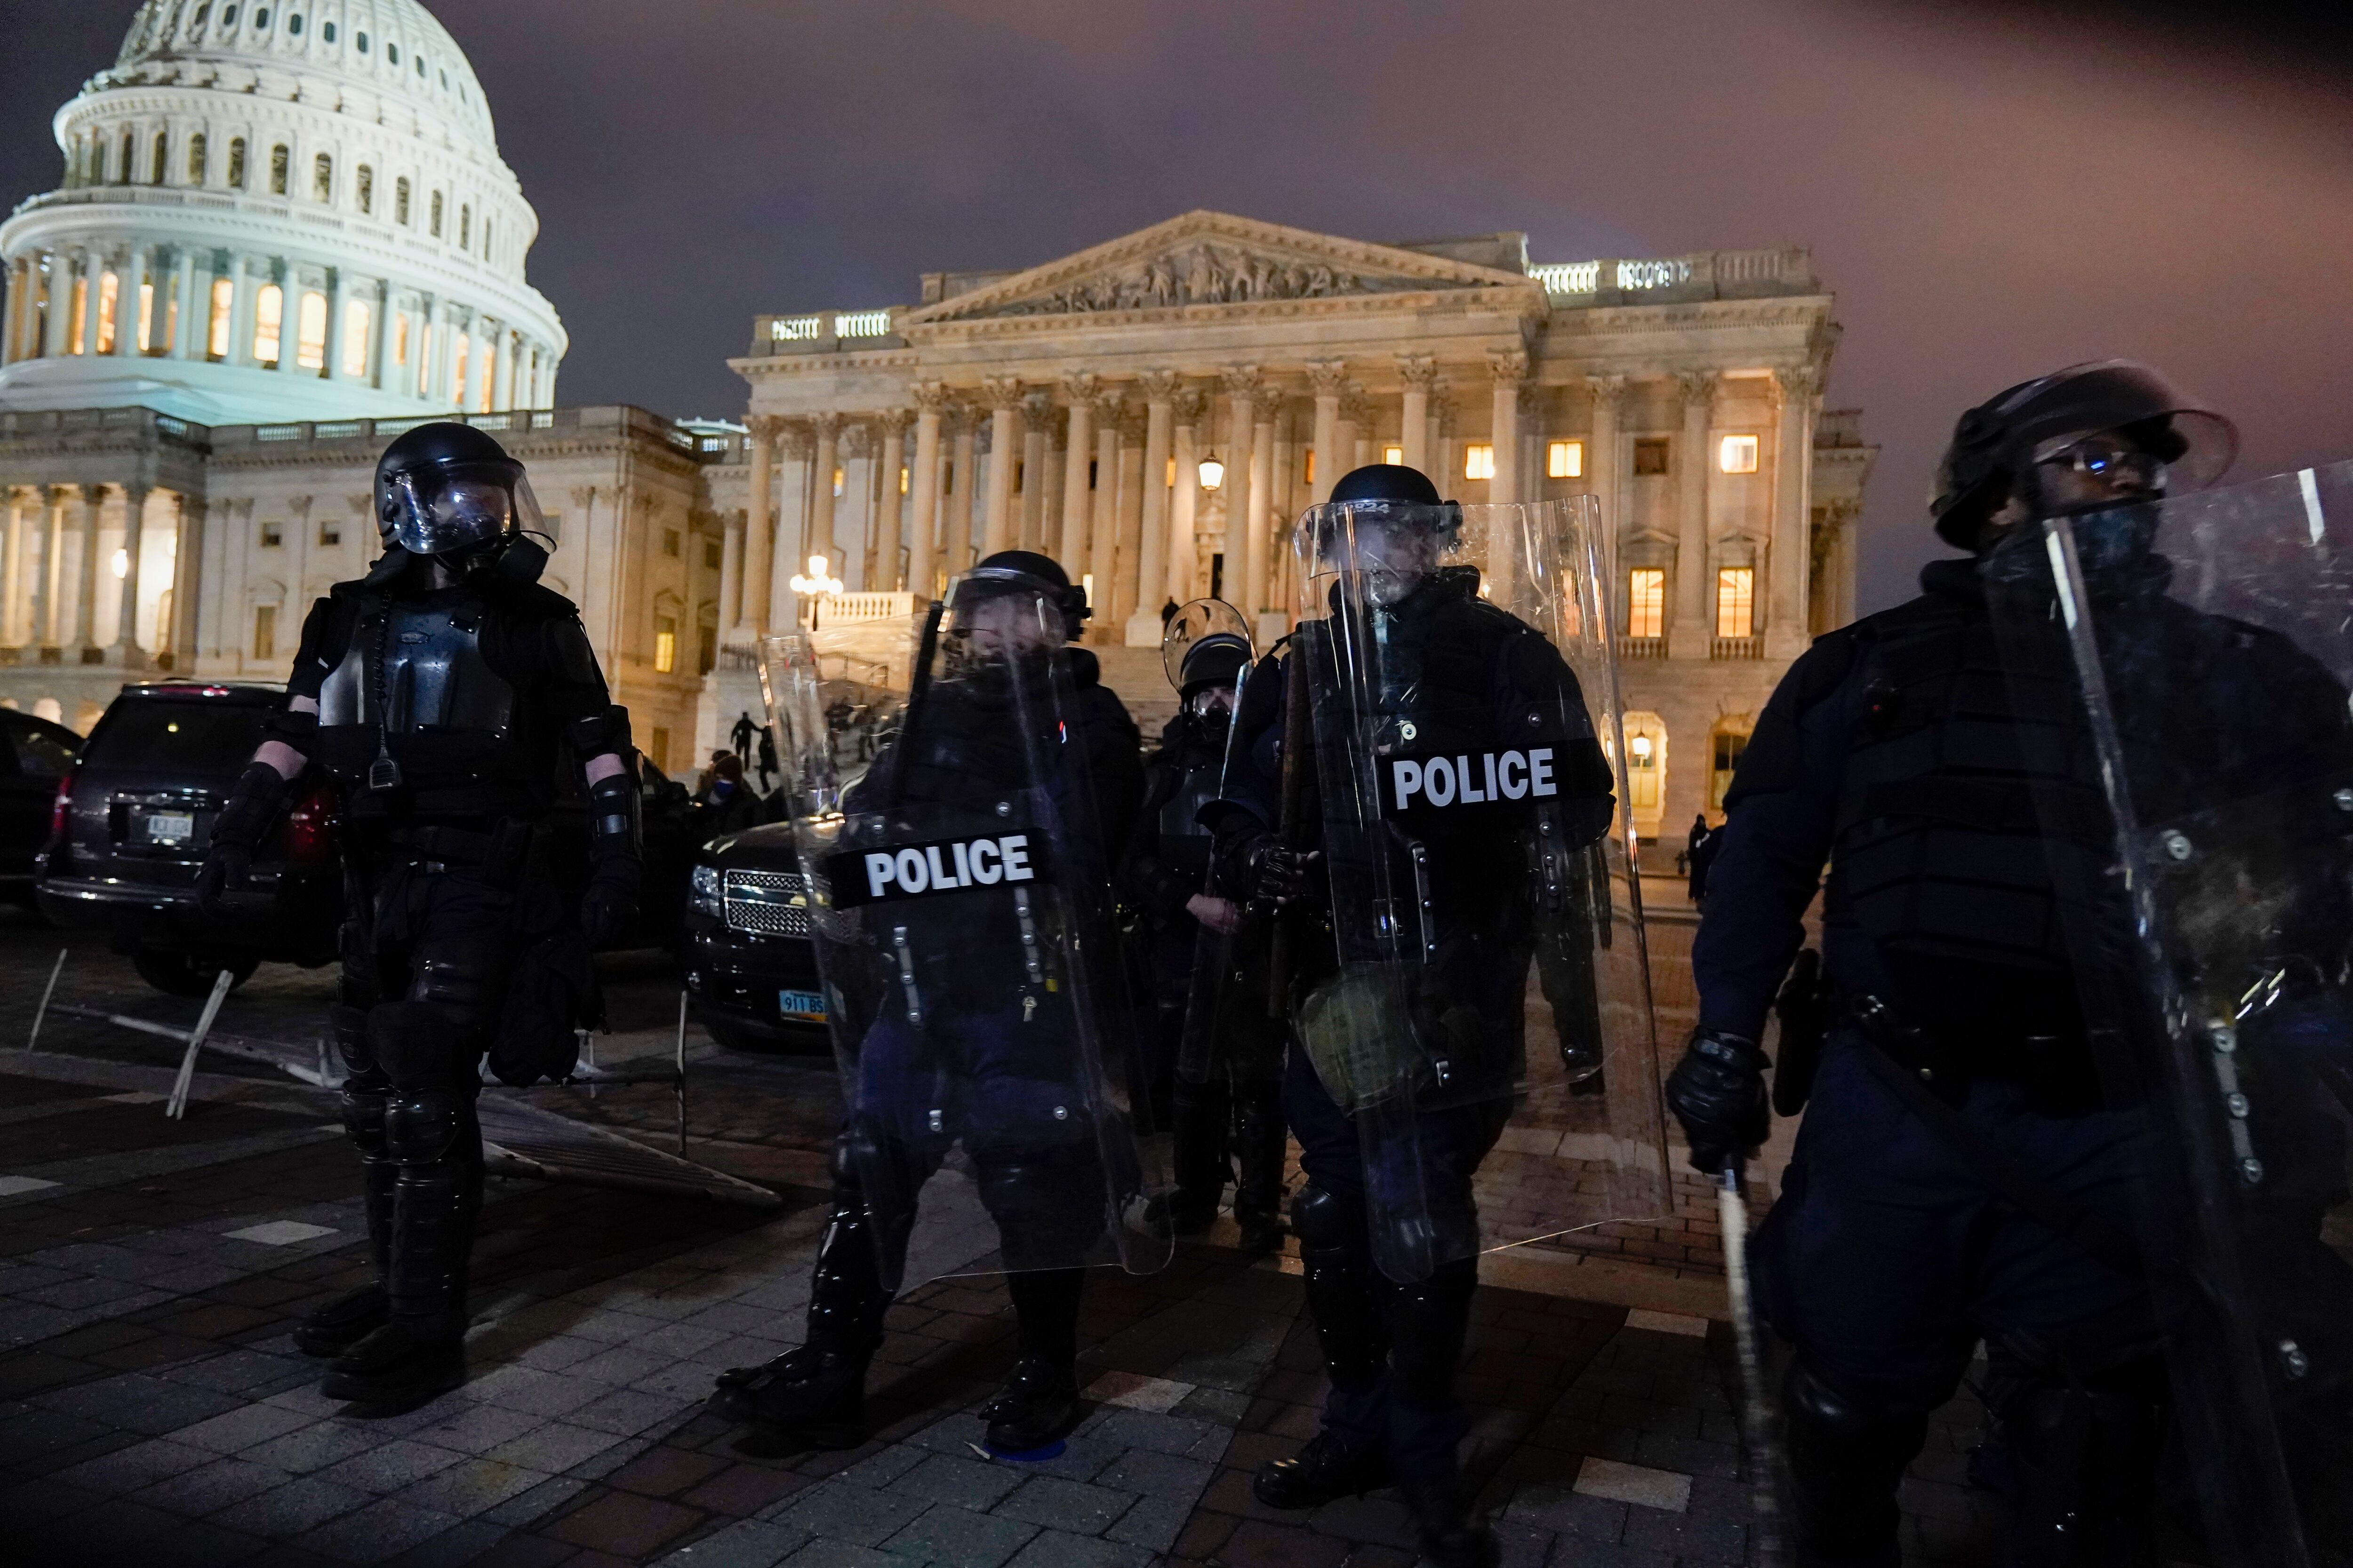
[(746, 827), (694, 856), (680, 959), (694, 1016), (736, 1051), (824, 1051), (826, 987), (793, 825)]

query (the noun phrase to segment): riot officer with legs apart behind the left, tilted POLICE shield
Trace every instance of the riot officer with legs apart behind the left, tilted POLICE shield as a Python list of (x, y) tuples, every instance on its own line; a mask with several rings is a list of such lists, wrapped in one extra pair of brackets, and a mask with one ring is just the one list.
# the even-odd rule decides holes
[[(1108, 893), (1108, 851), (1127, 842), (1144, 792), (1136, 726), (1101, 684), (1096, 658), (1061, 646), (1080, 635), (1087, 602), (1052, 559), (991, 555), (944, 609), (946, 630), (934, 607), (913, 686), (889, 703), (896, 729), (833, 813), (847, 823), (840, 851), (854, 865), (831, 877), (819, 964), (849, 1105), (807, 1333), (762, 1366), (722, 1373), (711, 1399), (713, 1413), (781, 1446), (866, 1439), (866, 1368), (904, 1276), (918, 1199), (955, 1143), (995, 1225), (1019, 1333), (1014, 1371), (981, 1408), (988, 1441), (1019, 1453), (1059, 1436), (1080, 1408), (1078, 1262), (1099, 1255), (1106, 1182), (1122, 1192), (1134, 1182), (1106, 1171), (1101, 1140), (1087, 1135), (1075, 1081), (1085, 1041), (1071, 1006), (1075, 980), (1092, 976), (1075, 973), (1085, 954), (1064, 940), (1064, 922), (1082, 914), (1047, 889), (1092, 879), (1096, 896)], [(812, 715), (824, 759), (861, 750), (828, 724)], [(791, 773), (807, 766), (807, 757), (788, 759), (786, 790), (807, 783)], [(1028, 886), (1005, 879), (1000, 849), (972, 858), (965, 823), (1024, 827)], [(939, 846), (948, 837), (953, 856)], [(878, 849), (885, 839), (927, 842), (904, 851), (908, 875), (925, 875), (929, 849), (944, 886), (967, 891), (852, 905), (868, 875), (861, 856), (892, 867), (894, 851)], [(887, 914), (859, 924), (875, 910)], [(1120, 1025), (1132, 1027), (1125, 1016)]]

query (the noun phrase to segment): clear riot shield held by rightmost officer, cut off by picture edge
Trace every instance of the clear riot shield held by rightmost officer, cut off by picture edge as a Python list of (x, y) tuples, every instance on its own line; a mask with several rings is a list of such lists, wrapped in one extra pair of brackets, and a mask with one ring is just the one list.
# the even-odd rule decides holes
[(2207, 1547), (2348, 1563), (2353, 465), (2028, 527), (1984, 578), (2012, 691), (2059, 682), (2040, 771), (2106, 799), (2040, 790)]

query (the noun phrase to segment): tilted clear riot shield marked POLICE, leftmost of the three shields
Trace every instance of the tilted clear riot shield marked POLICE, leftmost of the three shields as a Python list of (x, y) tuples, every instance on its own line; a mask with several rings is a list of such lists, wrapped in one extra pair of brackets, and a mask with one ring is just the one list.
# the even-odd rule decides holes
[(915, 623), (760, 654), (885, 1286), (1160, 1267), (1165, 1150), (1052, 595), (969, 574)]

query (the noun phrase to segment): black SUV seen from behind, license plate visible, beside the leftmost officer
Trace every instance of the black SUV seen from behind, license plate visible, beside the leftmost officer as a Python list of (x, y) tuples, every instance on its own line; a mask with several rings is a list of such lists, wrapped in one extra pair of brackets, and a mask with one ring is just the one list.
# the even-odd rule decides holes
[(332, 785), (304, 783), (221, 914), (195, 905), (212, 820), (273, 703), (268, 686), (125, 686), (59, 788), (56, 832), (38, 860), (42, 914), (113, 933), (139, 978), (174, 994), (212, 990), (221, 969), (242, 983), (264, 959), (334, 959), (344, 872)]

